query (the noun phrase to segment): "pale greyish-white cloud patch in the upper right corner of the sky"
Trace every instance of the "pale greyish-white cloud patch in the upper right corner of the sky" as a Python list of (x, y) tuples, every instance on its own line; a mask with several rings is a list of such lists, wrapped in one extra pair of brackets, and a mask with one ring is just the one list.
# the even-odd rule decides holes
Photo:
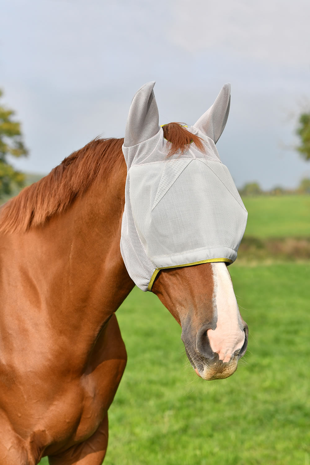
[(196, 54), (211, 50), (271, 66), (310, 69), (308, 0), (173, 0), (171, 40)]

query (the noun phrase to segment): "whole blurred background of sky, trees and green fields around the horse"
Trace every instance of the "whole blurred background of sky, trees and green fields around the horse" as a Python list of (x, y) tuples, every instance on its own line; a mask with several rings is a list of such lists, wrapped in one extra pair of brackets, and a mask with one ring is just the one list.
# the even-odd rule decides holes
[(201, 382), (171, 315), (135, 289), (105, 464), (310, 463), (309, 21), (307, 0), (2, 1), (0, 204), (123, 137), (145, 82), (160, 124), (193, 124), (231, 82), (218, 151), (249, 212), (230, 266), (249, 349), (233, 377)]

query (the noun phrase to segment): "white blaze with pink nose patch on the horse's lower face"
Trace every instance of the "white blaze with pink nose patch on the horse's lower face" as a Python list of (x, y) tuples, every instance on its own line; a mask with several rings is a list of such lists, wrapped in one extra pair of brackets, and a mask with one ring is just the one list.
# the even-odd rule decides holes
[(215, 330), (208, 329), (207, 335), (212, 351), (223, 362), (229, 362), (243, 346), (245, 334), (227, 266), (223, 262), (212, 263), (212, 269), (218, 321)]

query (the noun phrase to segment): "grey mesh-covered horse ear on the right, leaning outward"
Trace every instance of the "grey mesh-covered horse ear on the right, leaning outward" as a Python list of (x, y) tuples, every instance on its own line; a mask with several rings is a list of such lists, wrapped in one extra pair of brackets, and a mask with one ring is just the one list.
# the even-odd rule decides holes
[(230, 105), (231, 85), (224, 84), (213, 105), (196, 121), (194, 127), (205, 133), (216, 144), (226, 126)]

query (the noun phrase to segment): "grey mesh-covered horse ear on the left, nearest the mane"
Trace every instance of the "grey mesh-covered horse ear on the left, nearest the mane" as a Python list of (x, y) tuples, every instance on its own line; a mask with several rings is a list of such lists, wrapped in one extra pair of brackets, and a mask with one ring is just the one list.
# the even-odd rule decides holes
[(158, 108), (153, 87), (155, 81), (140, 87), (130, 106), (124, 146), (132, 147), (150, 139), (159, 131)]

